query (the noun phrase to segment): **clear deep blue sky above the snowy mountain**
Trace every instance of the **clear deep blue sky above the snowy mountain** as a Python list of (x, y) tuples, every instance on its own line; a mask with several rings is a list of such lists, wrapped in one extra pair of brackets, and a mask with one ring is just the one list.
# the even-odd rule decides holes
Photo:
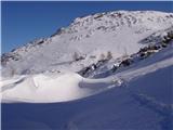
[(1, 2), (2, 53), (34, 39), (49, 37), (78, 16), (116, 10), (172, 12), (170, 2), (18, 1)]

